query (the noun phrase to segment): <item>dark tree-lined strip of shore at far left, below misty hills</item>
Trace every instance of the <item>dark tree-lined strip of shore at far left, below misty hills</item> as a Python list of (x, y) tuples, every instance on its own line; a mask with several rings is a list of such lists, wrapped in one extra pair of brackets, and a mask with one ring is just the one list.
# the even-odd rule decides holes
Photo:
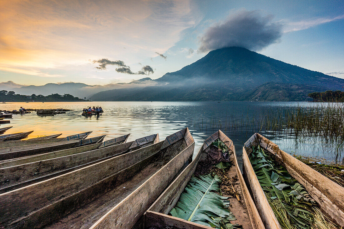
[(88, 101), (85, 99), (79, 99), (78, 97), (74, 97), (69, 94), (59, 95), (59, 94), (51, 94), (48, 96), (43, 95), (35, 95), (32, 94), (31, 96), (27, 95), (19, 95), (15, 94), (14, 91), (0, 91), (0, 101), (2, 102), (80, 102), (80, 101)]

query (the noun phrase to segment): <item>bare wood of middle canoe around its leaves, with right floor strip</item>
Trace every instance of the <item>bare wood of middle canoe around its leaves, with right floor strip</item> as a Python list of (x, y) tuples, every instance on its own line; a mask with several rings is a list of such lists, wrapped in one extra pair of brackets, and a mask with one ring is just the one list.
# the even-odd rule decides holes
[(179, 200), (185, 186), (196, 171), (198, 163), (207, 159), (207, 153), (210, 150), (211, 144), (218, 139), (228, 147), (230, 161), (232, 161), (232, 166), (227, 171), (227, 177), (237, 176), (237, 182), (234, 185), (234, 188), (240, 195), (240, 201), (236, 197), (230, 197), (229, 199), (229, 203), (231, 204), (230, 211), (232, 211), (237, 218), (233, 223), (238, 223), (245, 229), (265, 228), (260, 219), (257, 208), (248, 192), (243, 175), (241, 174), (233, 141), (230, 140), (221, 130), (218, 130), (204, 141), (201, 149), (195, 156), (195, 159), (183, 170), (183, 172), (181, 172), (181, 174), (168, 188), (165, 189), (159, 198), (146, 211), (144, 214), (144, 220), (141, 220), (144, 225), (139, 225), (140, 228), (162, 229), (173, 227), (175, 229), (212, 229), (212, 227), (173, 217), (168, 214)]

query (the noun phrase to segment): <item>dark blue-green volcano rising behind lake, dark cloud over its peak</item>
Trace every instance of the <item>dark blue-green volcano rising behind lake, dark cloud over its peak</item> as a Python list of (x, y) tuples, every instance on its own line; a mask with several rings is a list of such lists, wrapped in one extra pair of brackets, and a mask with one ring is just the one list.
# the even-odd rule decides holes
[(287, 64), (239, 47), (211, 51), (195, 63), (150, 81), (151, 85), (146, 87), (98, 92), (91, 99), (303, 101), (309, 92), (341, 90), (344, 87), (344, 79)]

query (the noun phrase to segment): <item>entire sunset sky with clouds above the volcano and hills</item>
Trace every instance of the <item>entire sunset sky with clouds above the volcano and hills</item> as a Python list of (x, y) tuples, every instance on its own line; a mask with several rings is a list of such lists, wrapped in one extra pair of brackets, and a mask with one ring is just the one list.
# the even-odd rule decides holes
[(0, 0), (0, 82), (159, 78), (225, 46), (344, 78), (344, 1)]

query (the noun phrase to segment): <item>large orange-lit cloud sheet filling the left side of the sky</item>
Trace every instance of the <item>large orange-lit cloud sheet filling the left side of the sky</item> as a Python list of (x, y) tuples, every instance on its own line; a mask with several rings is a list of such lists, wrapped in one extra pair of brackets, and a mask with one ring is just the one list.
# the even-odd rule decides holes
[(37, 68), (36, 76), (54, 75), (61, 66), (77, 71), (78, 65), (84, 73), (90, 57), (120, 55), (137, 63), (151, 50), (172, 47), (195, 24), (195, 15), (192, 0), (0, 1), (0, 63), (14, 73)]

